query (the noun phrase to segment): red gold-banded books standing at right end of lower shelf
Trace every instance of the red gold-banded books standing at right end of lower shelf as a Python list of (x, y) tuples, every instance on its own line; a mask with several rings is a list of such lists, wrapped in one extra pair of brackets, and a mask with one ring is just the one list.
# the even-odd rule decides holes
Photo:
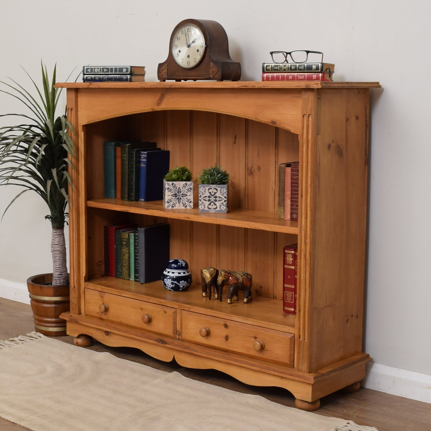
[(284, 247), (283, 262), (283, 311), (297, 312), (298, 244)]

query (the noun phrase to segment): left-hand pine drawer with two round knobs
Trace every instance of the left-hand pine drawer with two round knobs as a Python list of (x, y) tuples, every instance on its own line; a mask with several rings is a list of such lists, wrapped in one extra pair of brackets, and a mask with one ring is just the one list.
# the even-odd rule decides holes
[(176, 337), (176, 309), (85, 289), (85, 314)]

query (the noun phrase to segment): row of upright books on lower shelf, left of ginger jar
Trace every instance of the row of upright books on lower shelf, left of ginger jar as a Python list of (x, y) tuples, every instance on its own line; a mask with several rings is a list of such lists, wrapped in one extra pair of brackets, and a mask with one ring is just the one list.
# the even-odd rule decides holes
[(161, 280), (169, 261), (169, 225), (103, 227), (105, 275), (150, 283)]

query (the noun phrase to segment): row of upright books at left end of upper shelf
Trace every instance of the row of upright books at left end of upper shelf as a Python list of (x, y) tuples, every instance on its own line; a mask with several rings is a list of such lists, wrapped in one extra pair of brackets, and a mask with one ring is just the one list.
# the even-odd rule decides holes
[(103, 143), (105, 197), (141, 202), (163, 199), (170, 153), (156, 145), (141, 141)]

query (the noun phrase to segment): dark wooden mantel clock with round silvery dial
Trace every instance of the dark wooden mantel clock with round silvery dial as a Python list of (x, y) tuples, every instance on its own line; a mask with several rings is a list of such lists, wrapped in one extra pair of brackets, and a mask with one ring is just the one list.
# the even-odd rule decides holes
[[(193, 50), (189, 59), (190, 63), (187, 64), (187, 59), (184, 59), (183, 62), (176, 60), (179, 58), (181, 50), (176, 49), (175, 44), (177, 41), (181, 42), (181, 32), (185, 38), (187, 33), (191, 34), (192, 31), (196, 31), (199, 38), (196, 40), (196, 37), (193, 39), (188, 37), (184, 49), (189, 50), (192, 45), (196, 47), (199, 42), (201, 42), (202, 49), (198, 50), (195, 59), (192, 56), (196, 54), (197, 50)], [(168, 58), (159, 63), (157, 68), (159, 81), (238, 81), (240, 77), (241, 65), (231, 59), (225, 29), (218, 22), (206, 19), (184, 19), (179, 22), (172, 31)]]

